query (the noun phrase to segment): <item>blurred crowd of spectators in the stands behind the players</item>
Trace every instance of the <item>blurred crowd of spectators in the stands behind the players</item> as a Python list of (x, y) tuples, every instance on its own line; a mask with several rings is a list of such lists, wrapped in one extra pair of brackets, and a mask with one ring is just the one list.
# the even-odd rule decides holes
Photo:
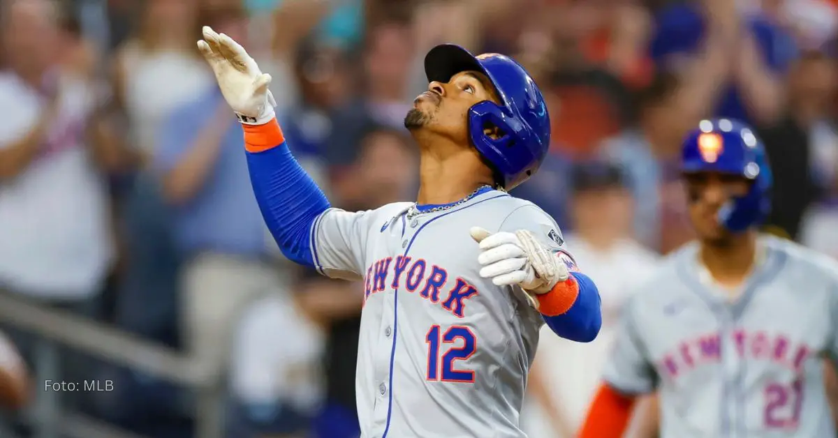
[[(0, 288), (205, 363), (227, 382), (229, 436), (358, 436), (363, 286), (278, 253), (201, 25), (272, 75), (292, 152), (344, 209), (415, 198), (402, 120), (434, 44), (510, 54), (535, 77), (553, 144), (513, 194), (561, 225), (603, 332), (542, 337), (533, 438), (572, 436), (620, 303), (691, 239), (676, 164), (701, 118), (761, 133), (766, 231), (838, 256), (835, 0), (0, 0)], [(8, 332), (27, 356), (31, 336)], [(67, 409), (192, 436), (188, 390), (74, 356), (62, 373), (116, 390)], [(25, 436), (37, 421), (9, 423)]]

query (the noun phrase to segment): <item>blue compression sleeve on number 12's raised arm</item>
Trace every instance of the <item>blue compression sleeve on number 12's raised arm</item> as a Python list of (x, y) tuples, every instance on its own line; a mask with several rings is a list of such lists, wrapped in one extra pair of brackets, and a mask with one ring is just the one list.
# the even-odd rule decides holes
[(289, 260), (314, 266), (310, 231), (314, 219), (330, 207), (326, 195), (284, 141), (259, 152), (253, 152), (250, 145), (247, 148), (253, 193), (279, 249)]

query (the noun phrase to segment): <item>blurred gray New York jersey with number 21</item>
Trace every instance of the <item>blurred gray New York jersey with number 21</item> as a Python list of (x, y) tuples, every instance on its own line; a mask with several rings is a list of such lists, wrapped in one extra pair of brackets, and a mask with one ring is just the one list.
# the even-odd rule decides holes
[(770, 236), (759, 247), (736, 301), (690, 244), (623, 310), (605, 379), (658, 389), (664, 438), (835, 436), (822, 358), (838, 358), (838, 264)]

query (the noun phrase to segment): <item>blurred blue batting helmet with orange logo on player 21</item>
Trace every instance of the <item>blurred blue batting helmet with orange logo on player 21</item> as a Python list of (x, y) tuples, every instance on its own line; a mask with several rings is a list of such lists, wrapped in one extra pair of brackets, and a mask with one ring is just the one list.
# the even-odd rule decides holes
[(701, 121), (686, 137), (681, 152), (684, 173), (727, 173), (752, 182), (747, 194), (732, 198), (719, 210), (725, 228), (738, 233), (765, 219), (771, 209), (771, 168), (763, 142), (750, 127), (729, 119)]

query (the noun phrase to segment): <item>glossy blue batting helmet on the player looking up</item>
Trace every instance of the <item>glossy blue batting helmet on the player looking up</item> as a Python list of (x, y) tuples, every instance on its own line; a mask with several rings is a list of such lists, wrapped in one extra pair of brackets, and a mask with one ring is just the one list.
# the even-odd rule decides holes
[[(502, 54), (479, 54), (454, 44), (441, 44), (425, 57), (427, 80), (448, 82), (463, 71), (478, 71), (494, 85), (500, 105), (489, 100), (468, 111), (468, 133), (478, 152), (503, 178), (504, 188), (515, 188), (541, 166), (550, 147), (550, 115), (541, 90), (524, 67)], [(486, 126), (502, 132), (484, 133)]]

